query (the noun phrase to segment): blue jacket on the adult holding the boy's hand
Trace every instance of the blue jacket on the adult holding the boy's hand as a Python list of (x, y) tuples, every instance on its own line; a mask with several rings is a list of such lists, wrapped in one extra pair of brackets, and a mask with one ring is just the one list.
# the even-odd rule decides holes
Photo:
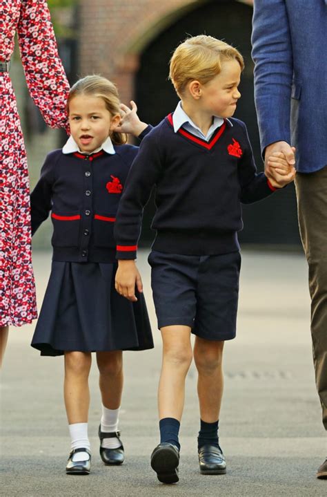
[(327, 0), (255, 0), (252, 31), (261, 149), (297, 147), (297, 170), (327, 164)]

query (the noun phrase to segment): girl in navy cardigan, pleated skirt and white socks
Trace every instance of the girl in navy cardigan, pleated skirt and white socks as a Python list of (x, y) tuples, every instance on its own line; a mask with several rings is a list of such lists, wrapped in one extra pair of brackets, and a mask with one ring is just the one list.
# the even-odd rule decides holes
[[(124, 144), (146, 126), (132, 111), (119, 113), (117, 89), (108, 79), (80, 79), (68, 97), (71, 136), (48, 154), (31, 194), (32, 233), (51, 211), (52, 271), (32, 346), (41, 355), (64, 355), (64, 397), (71, 437), (66, 473), (90, 473), (88, 375), (97, 353), (102, 417), (100, 455), (106, 465), (124, 460), (118, 416), (123, 389), (122, 350), (153, 347), (143, 294), (130, 303), (115, 291), (112, 230), (121, 192), (137, 147)], [(126, 123), (126, 124), (125, 124)]]

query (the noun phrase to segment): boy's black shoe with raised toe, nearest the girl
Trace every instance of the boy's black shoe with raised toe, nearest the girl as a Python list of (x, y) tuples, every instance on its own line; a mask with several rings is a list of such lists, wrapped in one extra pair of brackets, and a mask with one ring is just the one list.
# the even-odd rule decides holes
[(151, 454), (151, 467), (161, 483), (177, 483), (179, 450), (174, 444), (162, 442)]

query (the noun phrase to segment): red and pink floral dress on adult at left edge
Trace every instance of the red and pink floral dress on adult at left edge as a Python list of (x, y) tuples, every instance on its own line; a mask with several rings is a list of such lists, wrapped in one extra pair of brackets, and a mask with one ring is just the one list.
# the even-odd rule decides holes
[[(66, 126), (69, 85), (45, 0), (0, 0), (0, 61), (17, 32), (26, 82), (49, 126)], [(0, 326), (37, 317), (26, 151), (9, 73), (0, 72)]]

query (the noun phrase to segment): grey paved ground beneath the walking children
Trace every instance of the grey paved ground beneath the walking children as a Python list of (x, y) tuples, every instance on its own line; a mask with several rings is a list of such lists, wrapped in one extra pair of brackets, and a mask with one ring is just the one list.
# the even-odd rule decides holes
[[(49, 266), (49, 254), (34, 254), (40, 303)], [(156, 347), (125, 355), (121, 429), (126, 463), (110, 468), (99, 458), (100, 401), (93, 365), (92, 473), (66, 476), (69, 438), (62, 400), (62, 359), (39, 357), (30, 348), (33, 326), (12, 329), (1, 382), (0, 495), (326, 497), (327, 480), (315, 478), (327, 447), (314, 384), (304, 256), (243, 253), (238, 335), (226, 343), (224, 359), (220, 437), (228, 473), (199, 474), (199, 415), (192, 366), (181, 426), (180, 482), (173, 486), (159, 484), (149, 467), (150, 452), (158, 440), (156, 391), (161, 344), (150, 303), (145, 253), (141, 253), (139, 268)]]

